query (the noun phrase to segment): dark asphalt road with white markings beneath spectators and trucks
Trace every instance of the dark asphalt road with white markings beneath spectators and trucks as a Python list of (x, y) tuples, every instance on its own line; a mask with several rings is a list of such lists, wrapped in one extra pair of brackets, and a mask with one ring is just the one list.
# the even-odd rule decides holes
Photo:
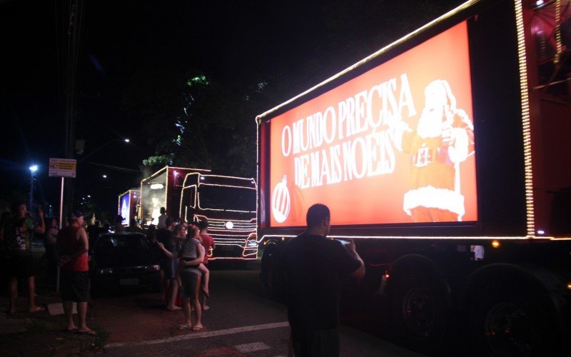
[[(285, 306), (263, 296), (259, 263), (211, 269), (211, 309), (202, 331), (178, 330), (182, 311), (167, 311), (156, 293), (132, 291), (94, 298), (94, 323), (108, 331), (110, 356), (288, 356)], [(342, 356), (420, 356), (363, 331), (359, 310), (343, 308)], [(355, 326), (357, 325), (357, 326)]]

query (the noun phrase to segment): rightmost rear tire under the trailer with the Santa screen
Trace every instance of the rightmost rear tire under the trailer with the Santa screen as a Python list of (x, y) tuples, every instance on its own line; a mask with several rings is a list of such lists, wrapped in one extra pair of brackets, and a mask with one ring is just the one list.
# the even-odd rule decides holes
[(539, 296), (493, 285), (470, 308), (470, 336), (477, 356), (535, 356), (552, 343)]

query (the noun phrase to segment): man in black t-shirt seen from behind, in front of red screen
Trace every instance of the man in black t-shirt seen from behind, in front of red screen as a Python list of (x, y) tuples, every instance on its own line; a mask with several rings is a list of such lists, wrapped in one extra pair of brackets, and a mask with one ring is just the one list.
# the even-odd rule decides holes
[(283, 251), (293, 350), (295, 356), (338, 356), (343, 278), (363, 278), (365, 266), (353, 241), (345, 248), (326, 238), (331, 226), (327, 206), (311, 206), (307, 223)]

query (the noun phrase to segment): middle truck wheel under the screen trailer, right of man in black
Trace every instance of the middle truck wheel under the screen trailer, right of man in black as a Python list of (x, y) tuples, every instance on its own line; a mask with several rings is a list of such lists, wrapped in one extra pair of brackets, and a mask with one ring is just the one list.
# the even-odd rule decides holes
[(392, 294), (396, 338), (411, 348), (434, 351), (447, 331), (448, 309), (442, 288), (427, 277), (405, 277)]

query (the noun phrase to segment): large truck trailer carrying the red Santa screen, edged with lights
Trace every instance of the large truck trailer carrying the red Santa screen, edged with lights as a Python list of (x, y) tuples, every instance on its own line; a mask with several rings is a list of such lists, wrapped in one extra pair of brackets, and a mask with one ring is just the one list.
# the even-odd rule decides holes
[[(571, 7), (466, 1), (256, 118), (261, 281), (314, 203), (399, 341), (475, 356), (571, 336)], [(382, 26), (382, 24), (379, 24)], [(379, 29), (383, 31), (383, 29)], [(565, 346), (564, 346), (565, 347)], [(560, 350), (561, 351), (561, 350)]]

